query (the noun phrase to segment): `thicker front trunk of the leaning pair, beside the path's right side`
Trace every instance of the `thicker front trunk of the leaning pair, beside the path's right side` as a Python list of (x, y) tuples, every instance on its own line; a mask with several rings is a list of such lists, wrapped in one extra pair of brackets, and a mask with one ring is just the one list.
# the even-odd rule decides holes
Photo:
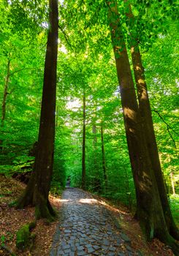
[(157, 237), (161, 241), (164, 241), (164, 243), (172, 246), (175, 253), (178, 253), (178, 245), (167, 230), (156, 178), (148, 154), (144, 125), (137, 105), (137, 97), (134, 90), (126, 45), (123, 39), (117, 4), (115, 1), (110, 1), (108, 2), (108, 6), (115, 64), (121, 90), (126, 138), (136, 189), (136, 216), (148, 239)]

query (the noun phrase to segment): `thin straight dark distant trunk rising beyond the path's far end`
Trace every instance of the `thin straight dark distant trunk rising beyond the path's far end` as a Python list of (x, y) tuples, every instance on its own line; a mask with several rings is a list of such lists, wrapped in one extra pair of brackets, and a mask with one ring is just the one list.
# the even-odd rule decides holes
[(82, 189), (85, 189), (85, 92), (83, 93)]

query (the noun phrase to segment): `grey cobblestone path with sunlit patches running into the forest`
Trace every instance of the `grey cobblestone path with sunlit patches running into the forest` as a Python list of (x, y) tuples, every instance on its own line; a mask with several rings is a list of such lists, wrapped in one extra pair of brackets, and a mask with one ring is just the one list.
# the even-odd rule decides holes
[(64, 191), (62, 202), (50, 256), (137, 255), (110, 211), (89, 193), (69, 188)]

